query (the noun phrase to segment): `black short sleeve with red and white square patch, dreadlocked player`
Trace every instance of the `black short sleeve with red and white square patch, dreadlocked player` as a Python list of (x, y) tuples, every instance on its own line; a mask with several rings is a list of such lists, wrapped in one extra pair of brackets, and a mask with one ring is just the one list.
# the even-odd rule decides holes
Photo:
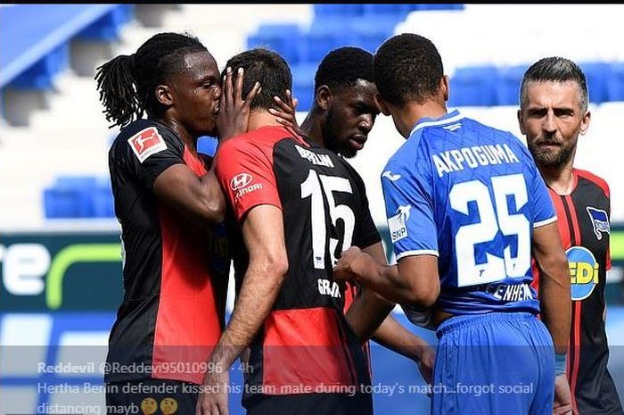
[(184, 164), (184, 144), (173, 133), (155, 126), (141, 129), (125, 140), (125, 157), (145, 187), (152, 188), (160, 173)]

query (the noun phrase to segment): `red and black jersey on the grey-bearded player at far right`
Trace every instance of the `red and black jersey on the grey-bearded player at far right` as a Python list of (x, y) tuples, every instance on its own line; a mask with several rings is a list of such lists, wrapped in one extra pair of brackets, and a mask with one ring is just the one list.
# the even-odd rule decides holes
[(604, 329), (604, 287), (606, 271), (611, 269), (609, 187), (602, 178), (585, 170), (573, 170), (573, 179), (571, 195), (558, 195), (548, 189), (571, 273), (567, 374), (572, 409), (577, 415), (623, 414), (607, 370), (609, 349)]

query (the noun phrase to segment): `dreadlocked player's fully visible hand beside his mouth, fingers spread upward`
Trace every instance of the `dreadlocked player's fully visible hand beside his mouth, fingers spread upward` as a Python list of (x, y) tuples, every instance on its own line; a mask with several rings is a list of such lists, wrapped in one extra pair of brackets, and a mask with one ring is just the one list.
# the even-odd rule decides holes
[(219, 101), (217, 118), (217, 129), (221, 140), (240, 136), (247, 132), (250, 120), (251, 101), (253, 101), (253, 98), (255, 98), (262, 89), (259, 82), (256, 82), (243, 101), (243, 72), (242, 68), (239, 68), (238, 74), (236, 75), (235, 87), (232, 84), (232, 79), (234, 78), (232, 68), (227, 68), (226, 76), (223, 78), (223, 93)]

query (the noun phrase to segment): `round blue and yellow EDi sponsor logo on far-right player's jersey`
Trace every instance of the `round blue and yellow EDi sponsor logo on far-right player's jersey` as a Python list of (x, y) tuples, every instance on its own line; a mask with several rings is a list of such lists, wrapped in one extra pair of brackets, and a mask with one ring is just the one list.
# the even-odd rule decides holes
[(565, 253), (570, 266), (572, 300), (584, 300), (598, 285), (600, 264), (595, 261), (594, 254), (583, 246), (572, 246)]

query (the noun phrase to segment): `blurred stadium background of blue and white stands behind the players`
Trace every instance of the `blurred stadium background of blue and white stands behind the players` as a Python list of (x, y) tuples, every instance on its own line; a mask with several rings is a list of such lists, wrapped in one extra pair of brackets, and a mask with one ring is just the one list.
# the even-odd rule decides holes
[[(70, 407), (103, 413), (98, 367), (122, 296), (119, 223), (108, 176), (108, 149), (118, 129), (104, 119), (94, 69), (117, 54), (134, 53), (161, 31), (199, 37), (219, 69), (254, 46), (282, 54), (291, 64), (299, 120), (312, 102), (324, 54), (340, 46), (374, 53), (393, 34), (418, 33), (442, 55), (451, 79), (449, 109), (517, 137), (518, 90), (530, 63), (549, 55), (578, 62), (588, 79), (592, 120), (579, 138), (576, 164), (605, 178), (612, 191), (607, 334), (610, 368), (622, 394), (622, 16), (624, 5), (604, 4), (0, 6), (0, 415)], [(384, 234), (379, 176), (403, 141), (392, 121), (380, 116), (365, 149), (350, 161), (365, 180)], [(435, 342), (431, 332), (406, 327)], [(56, 369), (43, 370), (42, 362)], [(66, 362), (84, 370), (61, 373), (59, 364)], [(373, 374), (377, 413), (428, 413), (422, 388), (409, 387), (423, 386), (414, 363), (374, 344)], [(240, 385), (240, 370), (233, 369), (232, 381)], [(242, 413), (240, 394), (230, 402), (232, 413)]]

